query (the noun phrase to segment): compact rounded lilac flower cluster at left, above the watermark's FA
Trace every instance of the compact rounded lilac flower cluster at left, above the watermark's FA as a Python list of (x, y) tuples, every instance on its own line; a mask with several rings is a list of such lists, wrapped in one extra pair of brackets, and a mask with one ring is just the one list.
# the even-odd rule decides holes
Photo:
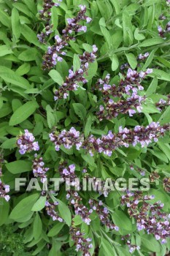
[(26, 154), (26, 152), (39, 151), (39, 144), (37, 141), (34, 141), (34, 135), (31, 132), (28, 132), (28, 129), (24, 130), (24, 134), (20, 135), (17, 140), (17, 145), (20, 154)]

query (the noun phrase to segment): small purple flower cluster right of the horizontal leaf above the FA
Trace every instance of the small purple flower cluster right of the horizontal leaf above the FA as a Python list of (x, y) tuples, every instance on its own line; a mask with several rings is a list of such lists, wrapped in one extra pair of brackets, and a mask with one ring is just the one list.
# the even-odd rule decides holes
[(33, 161), (33, 173), (34, 173), (34, 177), (40, 177), (41, 178), (41, 182), (44, 183), (45, 181), (47, 181), (47, 170), (49, 170), (49, 168), (45, 167), (45, 162), (43, 162), (42, 157), (37, 157), (37, 154), (34, 155), (35, 159)]

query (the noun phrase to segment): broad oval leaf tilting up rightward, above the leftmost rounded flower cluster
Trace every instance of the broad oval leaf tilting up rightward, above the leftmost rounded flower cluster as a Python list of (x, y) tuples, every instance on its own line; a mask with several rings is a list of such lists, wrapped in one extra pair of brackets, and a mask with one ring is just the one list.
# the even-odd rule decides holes
[(16, 124), (22, 123), (35, 112), (36, 108), (39, 108), (39, 105), (36, 103), (36, 101), (26, 102), (12, 114), (9, 120), (9, 125), (14, 126)]

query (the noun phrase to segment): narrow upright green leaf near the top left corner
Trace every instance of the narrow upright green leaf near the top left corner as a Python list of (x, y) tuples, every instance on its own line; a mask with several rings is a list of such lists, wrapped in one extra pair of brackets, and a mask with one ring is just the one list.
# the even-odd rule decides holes
[(12, 35), (17, 40), (20, 38), (20, 15), (18, 13), (18, 10), (13, 8), (12, 14), (11, 14), (11, 23), (12, 23)]

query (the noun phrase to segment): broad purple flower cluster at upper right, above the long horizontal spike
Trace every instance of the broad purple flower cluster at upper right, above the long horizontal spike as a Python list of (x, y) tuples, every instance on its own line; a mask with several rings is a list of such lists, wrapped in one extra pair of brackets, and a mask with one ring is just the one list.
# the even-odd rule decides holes
[[(143, 58), (143, 56), (140, 57)], [(139, 91), (144, 89), (141, 82), (151, 72), (152, 69), (147, 69), (146, 72), (137, 72), (128, 68), (126, 78), (120, 80), (119, 86), (109, 84), (109, 74), (104, 80), (99, 79), (96, 88), (101, 91), (104, 101), (104, 105), (100, 105), (98, 112), (96, 112), (99, 120), (117, 117), (119, 113), (128, 113), (129, 116), (133, 116), (136, 111), (140, 113), (142, 102), (145, 99), (139, 95)], [(113, 97), (115, 99), (112, 99)]]

